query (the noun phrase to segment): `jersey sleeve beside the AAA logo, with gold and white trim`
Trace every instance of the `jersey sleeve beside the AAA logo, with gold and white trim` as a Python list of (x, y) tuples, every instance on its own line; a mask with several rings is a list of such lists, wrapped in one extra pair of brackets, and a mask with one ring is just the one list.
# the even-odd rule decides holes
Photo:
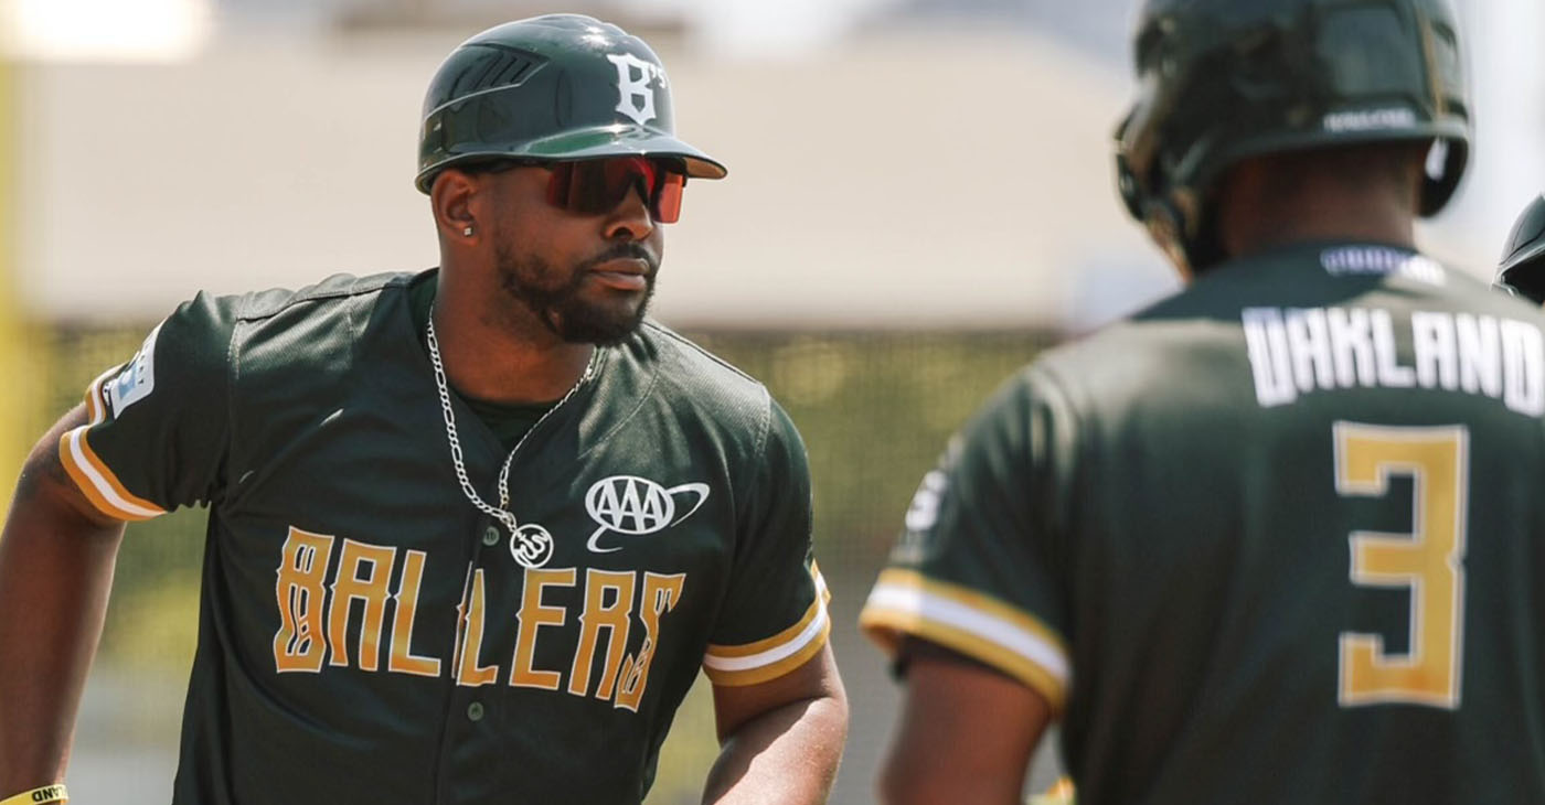
[(756, 477), (740, 516), (729, 592), (703, 657), (714, 684), (782, 677), (820, 652), (831, 632), (831, 595), (811, 547), (810, 462), (777, 402)]

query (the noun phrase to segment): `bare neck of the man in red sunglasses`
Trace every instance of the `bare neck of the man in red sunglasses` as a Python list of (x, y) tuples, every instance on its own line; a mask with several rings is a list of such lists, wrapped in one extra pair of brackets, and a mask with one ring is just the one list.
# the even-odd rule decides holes
[(558, 400), (579, 382), (595, 346), (569, 343), (535, 320), (508, 321), (487, 309), (488, 295), (448, 287), (442, 272), (434, 331), (451, 388), (501, 405)]

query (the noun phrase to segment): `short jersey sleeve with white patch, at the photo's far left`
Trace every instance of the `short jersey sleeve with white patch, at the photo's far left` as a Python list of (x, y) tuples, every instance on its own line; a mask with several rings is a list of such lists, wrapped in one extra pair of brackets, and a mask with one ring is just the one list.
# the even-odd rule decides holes
[(232, 298), (198, 295), (87, 388), (90, 420), (60, 437), (59, 456), (104, 515), (142, 521), (218, 493), (233, 307)]

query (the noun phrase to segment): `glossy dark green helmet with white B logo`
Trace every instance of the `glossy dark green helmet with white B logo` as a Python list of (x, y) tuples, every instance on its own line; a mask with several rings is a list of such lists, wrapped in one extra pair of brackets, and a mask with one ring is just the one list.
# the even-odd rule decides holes
[(621, 28), (550, 14), (462, 42), (430, 80), (419, 134), (428, 193), (447, 167), (485, 159), (681, 159), (686, 175), (725, 165), (675, 138), (671, 83), (655, 51)]

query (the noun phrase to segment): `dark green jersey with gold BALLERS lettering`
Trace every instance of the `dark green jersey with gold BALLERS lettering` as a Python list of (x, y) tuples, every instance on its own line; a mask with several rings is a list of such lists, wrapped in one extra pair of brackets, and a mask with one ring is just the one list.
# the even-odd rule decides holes
[[(422, 277), (422, 275), (420, 275)], [(701, 667), (825, 644), (803, 445), (646, 323), (457, 479), (408, 275), (199, 295), (60, 440), (105, 513), (210, 505), (176, 803), (640, 802)], [(451, 396), (470, 484), (508, 451)]]

